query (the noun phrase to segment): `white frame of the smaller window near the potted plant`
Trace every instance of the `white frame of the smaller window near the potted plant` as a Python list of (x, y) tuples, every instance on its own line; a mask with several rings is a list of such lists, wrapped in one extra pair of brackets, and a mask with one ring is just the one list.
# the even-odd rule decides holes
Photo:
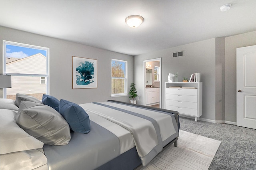
[[(125, 63), (125, 77), (112, 77), (112, 61), (120, 61)], [(122, 96), (128, 96), (128, 77), (127, 77), (127, 67), (128, 67), (128, 61), (120, 60), (120, 59), (111, 59), (111, 97), (122, 97)], [(117, 93), (112, 94), (112, 79), (124, 79), (124, 93)]]

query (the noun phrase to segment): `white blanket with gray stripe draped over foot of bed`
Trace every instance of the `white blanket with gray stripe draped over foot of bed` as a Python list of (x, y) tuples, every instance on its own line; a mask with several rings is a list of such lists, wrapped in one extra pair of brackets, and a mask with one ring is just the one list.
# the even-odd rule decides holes
[[(173, 136), (178, 136), (178, 127), (174, 128), (172, 125), (176, 123), (173, 115), (154, 113), (154, 111), (147, 109), (111, 102), (86, 103), (80, 106), (86, 112), (90, 111), (92, 115), (102, 117), (129, 130), (143, 166), (162, 150), (165, 139), (165, 142), (168, 143), (173, 139)], [(100, 123), (98, 124), (100, 125)], [(103, 125), (101, 126), (104, 127)], [(112, 128), (110, 130), (115, 134), (112, 130), (116, 129)], [(123, 147), (121, 143), (120, 147)]]

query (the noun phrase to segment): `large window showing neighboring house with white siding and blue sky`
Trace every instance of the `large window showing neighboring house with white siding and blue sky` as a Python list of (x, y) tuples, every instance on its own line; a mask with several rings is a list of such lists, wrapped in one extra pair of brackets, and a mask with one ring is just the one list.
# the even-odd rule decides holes
[(3, 41), (4, 74), (12, 75), (12, 88), (4, 89), (4, 98), (16, 99), (16, 93), (42, 100), (49, 91), (49, 48)]

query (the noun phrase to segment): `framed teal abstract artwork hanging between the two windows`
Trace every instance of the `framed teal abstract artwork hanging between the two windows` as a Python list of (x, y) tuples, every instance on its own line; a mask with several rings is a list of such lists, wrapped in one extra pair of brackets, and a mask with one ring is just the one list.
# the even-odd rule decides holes
[(72, 56), (72, 89), (97, 88), (97, 60)]

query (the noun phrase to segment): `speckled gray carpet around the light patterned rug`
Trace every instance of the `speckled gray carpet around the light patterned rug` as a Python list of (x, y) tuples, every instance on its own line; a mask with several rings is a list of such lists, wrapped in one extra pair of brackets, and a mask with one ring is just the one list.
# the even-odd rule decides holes
[(255, 170), (256, 131), (180, 117), (180, 129), (221, 141), (208, 170)]

